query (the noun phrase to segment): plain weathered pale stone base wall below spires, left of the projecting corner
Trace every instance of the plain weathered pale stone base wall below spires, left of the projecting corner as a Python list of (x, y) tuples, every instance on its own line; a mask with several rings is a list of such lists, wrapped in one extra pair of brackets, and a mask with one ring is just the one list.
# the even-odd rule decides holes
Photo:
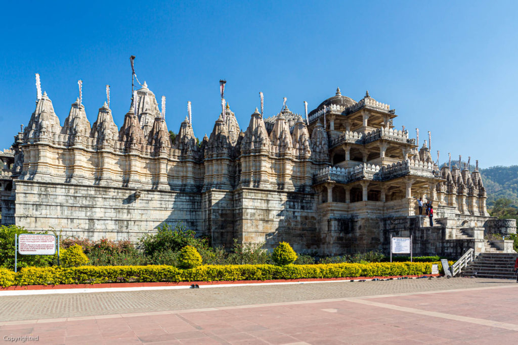
[(16, 181), (16, 224), (91, 239), (137, 241), (166, 222), (203, 231), (199, 193)]

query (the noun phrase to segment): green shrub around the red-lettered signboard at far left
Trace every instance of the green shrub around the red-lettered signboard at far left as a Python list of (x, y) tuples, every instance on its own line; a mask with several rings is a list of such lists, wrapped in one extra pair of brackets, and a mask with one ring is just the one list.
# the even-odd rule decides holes
[[(15, 225), (0, 226), (0, 267), (15, 269), (15, 234), (34, 234), (34, 232)], [(52, 259), (53, 257), (50, 255), (18, 254), (18, 268), (49, 266), (52, 263)]]

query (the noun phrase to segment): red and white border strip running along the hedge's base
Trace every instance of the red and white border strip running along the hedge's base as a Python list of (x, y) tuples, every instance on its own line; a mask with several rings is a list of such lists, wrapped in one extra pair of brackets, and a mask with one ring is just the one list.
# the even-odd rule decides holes
[(99, 288), (142, 288), (142, 287), (190, 287), (198, 284), (200, 287), (229, 284), (265, 284), (265, 283), (297, 283), (297, 282), (328, 282), (372, 279), (397, 279), (417, 277), (437, 277), (439, 274), (387, 276), (387, 277), (343, 277), (343, 278), (303, 278), (303, 279), (270, 279), (270, 280), (223, 280), (223, 281), (179, 281), (179, 282), (135, 282), (135, 283), (100, 283), (100, 284), (60, 284), (60, 285), (26, 285), (0, 288), (2, 291), (13, 290), (60, 290), (60, 289), (99, 289)]

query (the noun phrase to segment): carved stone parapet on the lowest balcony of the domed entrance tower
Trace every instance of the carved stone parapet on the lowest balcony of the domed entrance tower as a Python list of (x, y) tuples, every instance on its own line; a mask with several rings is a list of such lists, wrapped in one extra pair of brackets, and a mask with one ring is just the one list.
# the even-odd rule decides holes
[(362, 179), (388, 181), (406, 175), (437, 178), (437, 172), (433, 163), (417, 162), (408, 159), (394, 163), (391, 166), (382, 167), (363, 163), (348, 169), (338, 167), (322, 168), (315, 172), (313, 183), (319, 184), (333, 181), (348, 184)]

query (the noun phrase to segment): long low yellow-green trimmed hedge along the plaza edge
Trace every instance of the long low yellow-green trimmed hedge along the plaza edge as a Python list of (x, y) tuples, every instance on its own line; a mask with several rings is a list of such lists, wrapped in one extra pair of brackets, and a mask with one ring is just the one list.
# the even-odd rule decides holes
[[(181, 269), (167, 265), (0, 268), (0, 285), (96, 284), (407, 276), (431, 273), (430, 262), (381, 262), (316, 265), (204, 265)], [(439, 269), (441, 269), (441, 264)]]

